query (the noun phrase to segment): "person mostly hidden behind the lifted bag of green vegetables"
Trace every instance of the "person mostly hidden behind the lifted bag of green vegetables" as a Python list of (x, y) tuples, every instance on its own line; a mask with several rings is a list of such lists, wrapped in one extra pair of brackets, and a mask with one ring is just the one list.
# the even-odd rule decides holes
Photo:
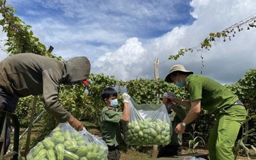
[[(165, 92), (163, 95), (163, 104), (165, 104), (168, 113), (170, 114), (170, 120), (172, 122), (172, 128), (175, 129), (176, 125), (182, 122), (186, 117), (186, 111), (179, 105), (171, 102), (167, 97), (176, 97), (172, 92)], [(182, 134), (172, 132), (171, 142), (168, 145), (160, 145), (157, 157), (176, 156), (181, 154)]]

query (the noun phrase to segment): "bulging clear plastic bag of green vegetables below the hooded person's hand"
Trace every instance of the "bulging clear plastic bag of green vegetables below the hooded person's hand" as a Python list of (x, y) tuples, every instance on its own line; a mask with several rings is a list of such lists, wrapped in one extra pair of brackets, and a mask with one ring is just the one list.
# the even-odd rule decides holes
[(28, 160), (38, 159), (108, 159), (108, 146), (84, 128), (77, 132), (68, 122), (59, 124), (44, 140), (33, 147)]

